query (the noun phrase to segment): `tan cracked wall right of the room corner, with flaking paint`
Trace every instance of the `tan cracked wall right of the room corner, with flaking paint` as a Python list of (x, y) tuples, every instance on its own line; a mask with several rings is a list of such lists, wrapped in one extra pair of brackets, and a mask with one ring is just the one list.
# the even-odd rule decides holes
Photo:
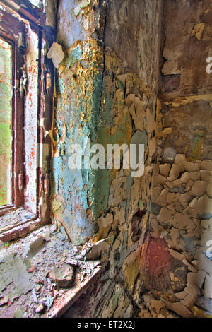
[(211, 15), (211, 1), (165, 1), (146, 287), (183, 317), (212, 314)]

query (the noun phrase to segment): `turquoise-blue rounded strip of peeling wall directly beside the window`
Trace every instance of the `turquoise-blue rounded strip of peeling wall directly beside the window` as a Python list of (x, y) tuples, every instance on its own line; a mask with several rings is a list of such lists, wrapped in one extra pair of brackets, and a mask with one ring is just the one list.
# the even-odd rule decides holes
[[(66, 57), (58, 69), (57, 107), (51, 131), (52, 213), (71, 241), (81, 244), (97, 228), (95, 202), (91, 208), (96, 177), (88, 170), (70, 169), (70, 146), (78, 143), (85, 150), (88, 138), (96, 140), (103, 49), (102, 42), (91, 38), (91, 28), (88, 30), (85, 23), (93, 19), (90, 1), (60, 1), (58, 13), (58, 39), (66, 47)], [(66, 35), (69, 29), (72, 32)]]

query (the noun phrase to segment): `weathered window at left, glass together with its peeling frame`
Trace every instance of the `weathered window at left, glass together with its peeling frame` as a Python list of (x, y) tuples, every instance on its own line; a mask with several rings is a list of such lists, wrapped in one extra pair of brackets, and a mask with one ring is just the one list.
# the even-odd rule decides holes
[(24, 207), (37, 218), (42, 33), (8, 6), (0, 5), (0, 17), (0, 216)]

